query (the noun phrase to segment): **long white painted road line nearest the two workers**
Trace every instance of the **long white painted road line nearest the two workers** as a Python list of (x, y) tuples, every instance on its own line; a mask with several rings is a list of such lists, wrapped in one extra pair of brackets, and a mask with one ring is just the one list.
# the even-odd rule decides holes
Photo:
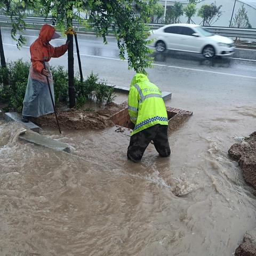
[[(3, 44), (4, 45), (9, 45), (9, 46), (16, 46), (15, 44), (6, 44), (6, 43), (3, 43)], [(22, 46), (22, 47), (29, 48), (29, 46)], [(76, 53), (74, 53), (74, 54), (76, 54)], [(127, 60), (121, 60), (121, 59), (111, 58), (111, 57), (95, 56), (95, 55), (83, 54), (83, 53), (80, 53), (80, 55), (81, 56), (85, 56), (85, 57), (98, 58), (98, 59), (118, 60), (118, 61), (126, 61), (127, 62)], [(153, 66), (160, 66), (160, 67), (166, 67), (166, 68), (177, 68), (177, 69), (198, 71), (198, 72), (211, 73), (211, 74), (219, 74), (219, 75), (226, 75), (226, 76), (236, 76), (236, 77), (244, 77), (244, 78), (256, 79), (256, 77), (254, 77), (254, 76), (237, 75), (237, 74), (223, 73), (223, 72), (218, 72), (218, 71), (203, 70), (203, 69), (197, 69), (197, 68), (185, 68), (185, 67), (178, 67), (178, 66), (167, 66), (167, 65), (156, 64), (156, 63), (153, 63)]]

